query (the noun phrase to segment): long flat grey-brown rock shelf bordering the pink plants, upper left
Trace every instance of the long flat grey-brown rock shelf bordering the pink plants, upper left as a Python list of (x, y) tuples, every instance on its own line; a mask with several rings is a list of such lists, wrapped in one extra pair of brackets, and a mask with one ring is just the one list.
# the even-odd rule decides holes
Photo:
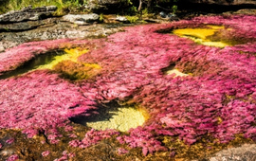
[[(52, 18), (50, 18), (52, 19)], [(55, 22), (46, 19), (44, 26), (18, 32), (0, 32), (0, 53), (6, 49), (26, 42), (54, 39), (84, 39), (105, 37), (109, 34), (122, 31), (121, 25), (92, 25), (74, 26), (56, 18)], [(48, 22), (48, 23), (47, 23)]]

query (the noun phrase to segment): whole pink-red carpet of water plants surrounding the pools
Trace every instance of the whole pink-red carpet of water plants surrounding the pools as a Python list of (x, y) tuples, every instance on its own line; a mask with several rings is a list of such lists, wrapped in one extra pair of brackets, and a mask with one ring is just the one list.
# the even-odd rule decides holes
[[(222, 36), (239, 45), (196, 45), (162, 33), (204, 25), (232, 28)], [(174, 155), (164, 142), (170, 137), (186, 145), (204, 137), (229, 143), (238, 134), (256, 141), (255, 25), (256, 16), (250, 15), (196, 17), (126, 27), (107, 39), (56, 40), (11, 48), (0, 54), (1, 75), (49, 50), (83, 45), (89, 51), (77, 63), (63, 62), (55, 70), (35, 70), (0, 80), (0, 128), (22, 129), (29, 137), (43, 132), (52, 144), (58, 144), (62, 135), (57, 127), (72, 131), (70, 117), (96, 114), (100, 108), (97, 103), (119, 100), (145, 107), (149, 119), (128, 133), (91, 130), (82, 139), (71, 134), (69, 146), (84, 149), (113, 136), (130, 149), (140, 148), (146, 156), (166, 151)], [(84, 63), (99, 64), (101, 71), (84, 67)], [(189, 75), (165, 75), (162, 70), (170, 64)], [(61, 77), (62, 72), (93, 79), (67, 80)]]

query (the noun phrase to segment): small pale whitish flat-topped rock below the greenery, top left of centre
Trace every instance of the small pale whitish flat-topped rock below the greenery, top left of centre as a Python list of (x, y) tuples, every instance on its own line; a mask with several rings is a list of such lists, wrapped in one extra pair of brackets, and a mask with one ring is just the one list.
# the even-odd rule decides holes
[(93, 22), (97, 22), (100, 16), (96, 13), (91, 14), (67, 14), (64, 15), (63, 20), (77, 25), (89, 25)]

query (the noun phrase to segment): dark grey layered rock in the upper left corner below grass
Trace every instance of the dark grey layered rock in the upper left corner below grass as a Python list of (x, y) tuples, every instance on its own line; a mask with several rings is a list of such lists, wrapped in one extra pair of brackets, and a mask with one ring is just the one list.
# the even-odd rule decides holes
[(0, 23), (17, 23), (23, 21), (36, 21), (42, 20), (49, 16), (52, 16), (52, 12), (57, 9), (55, 6), (41, 7), (32, 9), (31, 7), (27, 7), (21, 10), (12, 10), (5, 14), (0, 15)]

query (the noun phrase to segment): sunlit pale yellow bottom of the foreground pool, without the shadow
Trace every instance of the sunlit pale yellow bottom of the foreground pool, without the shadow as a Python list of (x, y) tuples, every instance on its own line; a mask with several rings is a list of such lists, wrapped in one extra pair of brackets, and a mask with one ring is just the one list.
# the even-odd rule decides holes
[(112, 115), (109, 119), (86, 122), (86, 126), (96, 130), (117, 129), (120, 132), (127, 132), (131, 128), (143, 125), (146, 120), (143, 113), (133, 107), (119, 108), (118, 111), (109, 113)]

